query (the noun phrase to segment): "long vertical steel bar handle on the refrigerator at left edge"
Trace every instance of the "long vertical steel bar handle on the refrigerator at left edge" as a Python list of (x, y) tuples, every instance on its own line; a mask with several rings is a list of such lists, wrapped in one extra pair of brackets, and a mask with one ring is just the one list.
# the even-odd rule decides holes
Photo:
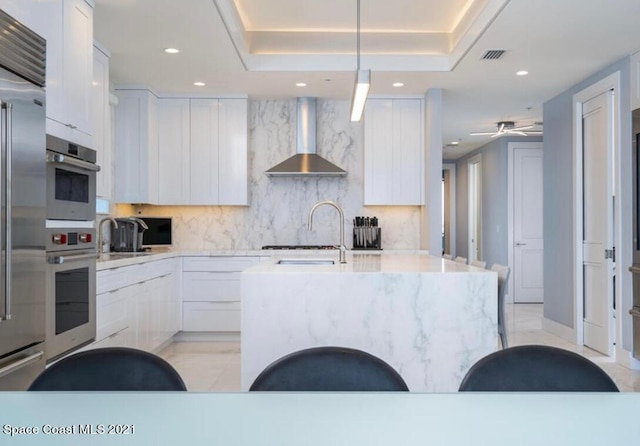
[(0, 183), (0, 192), (2, 193), (2, 204), (4, 205), (4, 221), (0, 222), (0, 236), (3, 241), (2, 259), (3, 269), (2, 278), (4, 286), (2, 294), (4, 294), (4, 312), (0, 320), (8, 321), (11, 319), (11, 104), (0, 101), (0, 109), (2, 118), (0, 133), (2, 134), (2, 155), (4, 158), (3, 172), (0, 175), (2, 182)]

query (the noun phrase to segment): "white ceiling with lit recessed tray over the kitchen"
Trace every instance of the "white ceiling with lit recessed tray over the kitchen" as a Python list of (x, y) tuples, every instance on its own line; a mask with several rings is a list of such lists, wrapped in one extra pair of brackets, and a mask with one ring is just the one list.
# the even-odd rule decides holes
[[(115, 84), (351, 98), (356, 0), (96, 0), (94, 17)], [(370, 95), (443, 90), (443, 141), (460, 142), (447, 159), (490, 140), (470, 132), (543, 121), (545, 101), (640, 50), (638, 0), (362, 0), (360, 17)], [(506, 53), (481, 60), (488, 49)]]

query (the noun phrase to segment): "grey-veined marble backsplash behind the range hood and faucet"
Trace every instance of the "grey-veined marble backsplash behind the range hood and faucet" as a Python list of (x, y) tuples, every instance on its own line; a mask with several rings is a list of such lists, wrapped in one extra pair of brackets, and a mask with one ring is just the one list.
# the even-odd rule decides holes
[(268, 177), (264, 171), (295, 154), (296, 100), (249, 101), (249, 206), (118, 205), (117, 216), (173, 217), (175, 249), (259, 249), (263, 245), (337, 244), (339, 218), (318, 208), (313, 231), (309, 210), (334, 200), (345, 214), (352, 246), (355, 216), (377, 216), (383, 249), (419, 249), (420, 208), (363, 206), (364, 125), (349, 121), (349, 102), (317, 101), (317, 152), (347, 171), (346, 177)]

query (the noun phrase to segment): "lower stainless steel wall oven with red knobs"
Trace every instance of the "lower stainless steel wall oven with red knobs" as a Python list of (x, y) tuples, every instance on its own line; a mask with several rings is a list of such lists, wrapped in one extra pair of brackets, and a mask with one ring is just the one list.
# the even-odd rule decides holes
[(47, 228), (47, 362), (96, 336), (97, 251), (87, 226)]

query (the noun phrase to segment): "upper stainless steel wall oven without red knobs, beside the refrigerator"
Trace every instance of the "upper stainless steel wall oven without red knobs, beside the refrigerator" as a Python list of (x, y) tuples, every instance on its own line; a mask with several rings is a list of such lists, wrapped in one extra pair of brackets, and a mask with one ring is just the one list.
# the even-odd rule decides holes
[(47, 218), (94, 220), (96, 151), (47, 135)]

